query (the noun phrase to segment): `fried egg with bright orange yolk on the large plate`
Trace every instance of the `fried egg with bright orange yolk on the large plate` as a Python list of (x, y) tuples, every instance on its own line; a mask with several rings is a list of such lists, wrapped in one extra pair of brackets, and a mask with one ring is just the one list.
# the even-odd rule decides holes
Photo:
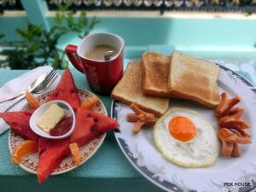
[(187, 108), (172, 108), (158, 119), (154, 143), (178, 166), (211, 166), (218, 158), (217, 133), (200, 113)]

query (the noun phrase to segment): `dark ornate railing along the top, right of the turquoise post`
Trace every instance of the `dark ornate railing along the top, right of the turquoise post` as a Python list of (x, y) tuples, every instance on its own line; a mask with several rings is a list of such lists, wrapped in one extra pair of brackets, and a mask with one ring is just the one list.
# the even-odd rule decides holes
[(256, 0), (47, 0), (50, 10), (70, 3), (73, 10), (166, 10), (256, 12)]

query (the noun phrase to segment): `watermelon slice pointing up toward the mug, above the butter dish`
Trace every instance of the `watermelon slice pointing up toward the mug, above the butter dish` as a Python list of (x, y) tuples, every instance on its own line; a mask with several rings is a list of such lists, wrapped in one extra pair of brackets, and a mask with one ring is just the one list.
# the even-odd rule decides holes
[(73, 76), (70, 70), (67, 68), (62, 74), (61, 81), (49, 96), (47, 102), (52, 100), (63, 100), (71, 105), (76, 110), (80, 106), (80, 99), (78, 90), (73, 81)]

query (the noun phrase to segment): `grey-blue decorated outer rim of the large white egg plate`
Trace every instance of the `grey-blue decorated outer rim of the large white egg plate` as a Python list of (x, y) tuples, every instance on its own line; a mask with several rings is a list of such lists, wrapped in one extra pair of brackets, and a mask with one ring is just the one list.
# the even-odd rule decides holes
[[(227, 71), (230, 71), (231, 73), (233, 73), (234, 75), (236, 75), (236, 77), (238, 77), (239, 79), (241, 79), (241, 81), (242, 81), (243, 83), (247, 84), (247, 86), (249, 87), (249, 89), (252, 90), (253, 84), (252, 84), (248, 79), (242, 77), (241, 74), (239, 74), (239, 73), (237, 73), (237, 72), (231, 70), (231, 69), (228, 68), (228, 67), (224, 67), (223, 65), (220, 65), (220, 64), (218, 64), (218, 63), (216, 63), (216, 64), (218, 65), (218, 67), (220, 67), (221, 70), (224, 70), (224, 71), (226, 71), (226, 72), (227, 72)], [(253, 90), (253, 92), (256, 92), (256, 90)], [(115, 104), (116, 102), (118, 102), (118, 101), (115, 101), (115, 100), (112, 99), (112, 102), (111, 102), (111, 112), (110, 112), (110, 113), (111, 113), (111, 117), (114, 118), (114, 119), (115, 119), (115, 117), (114, 117), (114, 115), (113, 115), (113, 107), (114, 107), (114, 104)], [(143, 170), (141, 169), (141, 167), (138, 166), (137, 163), (133, 162), (133, 160), (131, 159), (131, 157), (125, 152), (125, 148), (124, 148), (123, 145), (127, 145), (127, 144), (125, 143), (125, 140), (124, 140), (124, 139), (119, 138), (119, 137), (117, 136), (116, 132), (119, 132), (119, 130), (116, 129), (116, 130), (114, 131), (114, 137), (115, 137), (117, 143), (119, 144), (119, 148), (121, 149), (122, 153), (125, 154), (125, 158), (131, 163), (131, 166), (133, 166), (133, 167), (137, 170), (137, 172), (139, 172), (140, 174), (142, 174), (143, 177), (147, 178), (149, 182), (154, 183), (156, 186), (160, 187), (160, 189), (163, 189), (163, 190), (165, 190), (165, 191), (173, 191), (173, 192), (176, 192), (176, 191), (174, 191), (174, 190), (172, 190), (172, 189), (168, 189), (168, 188), (166, 188), (166, 186), (163, 186), (162, 184), (160, 184), (160, 183), (154, 181), (154, 179), (153, 179), (152, 177), (148, 176), (147, 173), (143, 172)], [(124, 143), (124, 144), (122, 144), (122, 143)], [(147, 171), (148, 171), (148, 170), (147, 170)], [(150, 171), (148, 171), (148, 172), (150, 172)], [(165, 181), (166, 181), (166, 180), (165, 180)], [(169, 181), (166, 181), (166, 182), (168, 182), (168, 184), (172, 184), (172, 185), (176, 186), (175, 184), (173, 184), (173, 183), (171, 183), (171, 182), (169, 182)], [(175, 187), (174, 187), (174, 188), (175, 188)], [(254, 187), (253, 189), (256, 189), (256, 187)], [(253, 189), (249, 189), (247, 192), (252, 191)], [(193, 192), (196, 192), (196, 190), (193, 190)]]

